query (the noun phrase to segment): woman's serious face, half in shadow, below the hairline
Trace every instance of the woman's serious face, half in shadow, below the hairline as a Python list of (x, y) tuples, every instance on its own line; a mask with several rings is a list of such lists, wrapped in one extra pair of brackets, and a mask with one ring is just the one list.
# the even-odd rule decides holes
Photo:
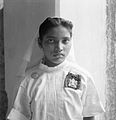
[(63, 26), (54, 27), (42, 39), (42, 48), (45, 63), (54, 67), (62, 63), (71, 48), (71, 36), (67, 28)]

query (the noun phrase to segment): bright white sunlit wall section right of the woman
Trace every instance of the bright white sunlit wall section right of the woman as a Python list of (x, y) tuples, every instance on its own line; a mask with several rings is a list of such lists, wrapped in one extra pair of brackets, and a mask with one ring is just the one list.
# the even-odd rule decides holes
[(105, 0), (61, 0), (60, 15), (74, 23), (77, 63), (88, 70), (105, 103)]

